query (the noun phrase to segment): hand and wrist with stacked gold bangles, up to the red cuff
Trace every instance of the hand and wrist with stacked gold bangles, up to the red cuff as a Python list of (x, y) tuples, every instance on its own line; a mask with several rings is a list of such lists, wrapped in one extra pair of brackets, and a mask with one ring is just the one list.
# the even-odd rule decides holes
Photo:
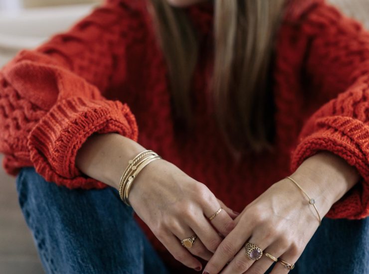
[[(94, 134), (78, 150), (76, 165), (86, 175), (119, 189), (128, 160), (143, 150), (139, 143), (116, 133)], [(196, 270), (201, 264), (190, 253), (209, 260), (222, 241), (218, 232), (225, 237), (235, 226), (232, 218), (237, 216), (204, 184), (164, 159), (140, 171), (129, 202), (169, 252)], [(224, 210), (209, 221), (207, 217), (220, 207)], [(193, 235), (197, 236), (196, 242), (187, 251), (181, 240)]]

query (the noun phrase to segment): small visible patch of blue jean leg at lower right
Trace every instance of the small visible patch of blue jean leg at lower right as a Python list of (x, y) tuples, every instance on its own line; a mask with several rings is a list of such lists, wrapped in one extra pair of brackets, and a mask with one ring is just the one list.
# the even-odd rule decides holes
[(296, 262), (295, 269), (289, 273), (369, 274), (368, 262), (369, 218), (324, 218)]

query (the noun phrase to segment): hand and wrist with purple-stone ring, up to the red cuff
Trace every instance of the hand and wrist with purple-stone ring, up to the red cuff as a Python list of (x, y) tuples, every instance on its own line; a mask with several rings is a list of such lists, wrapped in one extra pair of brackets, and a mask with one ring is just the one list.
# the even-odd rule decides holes
[[(291, 177), (315, 198), (322, 218), (359, 178), (353, 167), (325, 152), (306, 160)], [(218, 246), (204, 274), (222, 270), (222, 274), (263, 274), (274, 263), (265, 253), (293, 265), (320, 224), (313, 205), (288, 178), (273, 184), (247, 205), (235, 222), (235, 228)], [(263, 251), (260, 259), (248, 257), (244, 248), (247, 242)], [(278, 262), (272, 274), (288, 272), (289, 269)]]

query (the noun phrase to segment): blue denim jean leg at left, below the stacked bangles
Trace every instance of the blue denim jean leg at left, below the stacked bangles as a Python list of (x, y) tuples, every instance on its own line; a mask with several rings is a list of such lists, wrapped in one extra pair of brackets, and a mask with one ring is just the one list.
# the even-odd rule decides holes
[(71, 190), (33, 167), (22, 168), (16, 184), (47, 273), (167, 273), (116, 189)]

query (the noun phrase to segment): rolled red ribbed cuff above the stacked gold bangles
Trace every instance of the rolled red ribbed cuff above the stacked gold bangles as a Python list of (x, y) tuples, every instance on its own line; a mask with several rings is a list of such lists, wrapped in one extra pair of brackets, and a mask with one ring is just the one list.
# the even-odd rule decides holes
[(126, 104), (82, 97), (58, 102), (28, 136), (36, 171), (47, 181), (68, 188), (106, 187), (75, 166), (78, 149), (94, 133), (118, 133), (135, 141), (138, 138), (135, 117)]

